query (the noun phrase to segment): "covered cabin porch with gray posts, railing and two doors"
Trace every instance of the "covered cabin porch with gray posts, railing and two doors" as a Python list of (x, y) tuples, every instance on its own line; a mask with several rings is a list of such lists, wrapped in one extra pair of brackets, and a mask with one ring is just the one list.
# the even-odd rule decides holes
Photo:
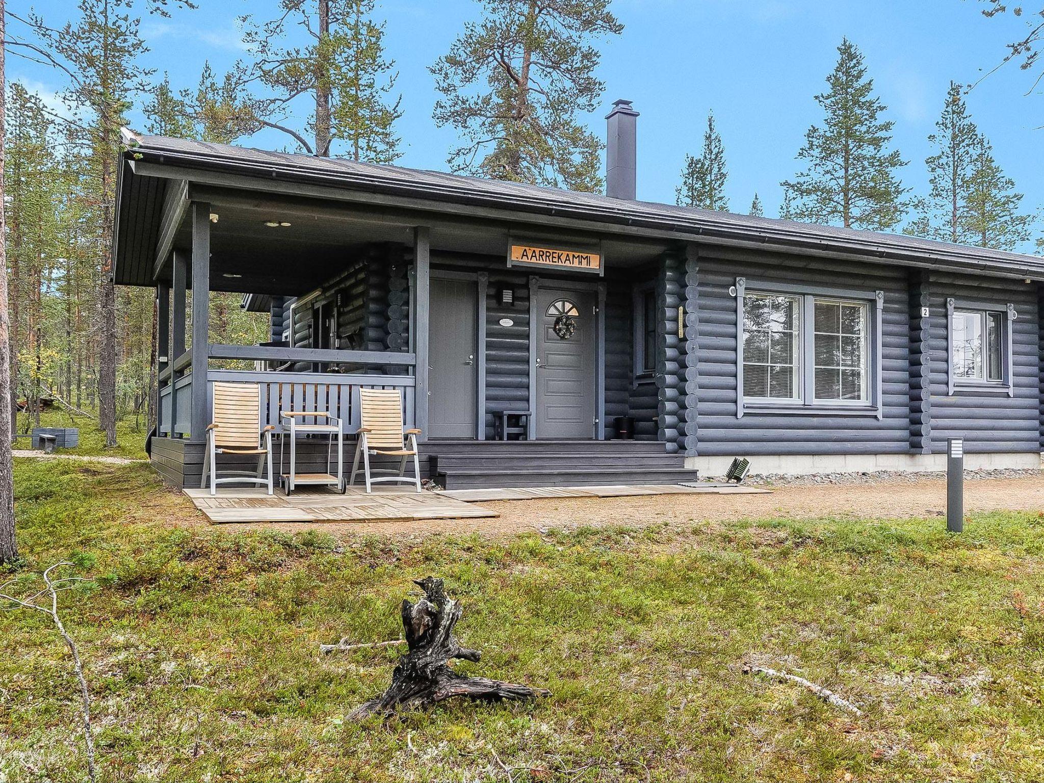
[[(385, 388), (422, 431), (423, 477), (448, 489), (694, 478), (679, 414), (677, 243), (144, 161), (123, 172), (120, 197), (125, 277), (156, 290), (150, 456), (172, 484), (199, 487), (224, 381), (258, 385), (258, 429), (275, 428), (277, 459), (281, 412), (323, 410), (343, 422), (350, 464), (359, 389)], [(138, 211), (150, 211), (152, 236)], [(526, 263), (519, 246), (551, 248), (552, 262)], [(554, 248), (597, 266), (555, 263)], [(243, 294), (270, 339), (212, 341), (214, 291)], [(319, 472), (326, 445), (298, 454), (299, 471)], [(254, 458), (238, 461), (221, 465)]]

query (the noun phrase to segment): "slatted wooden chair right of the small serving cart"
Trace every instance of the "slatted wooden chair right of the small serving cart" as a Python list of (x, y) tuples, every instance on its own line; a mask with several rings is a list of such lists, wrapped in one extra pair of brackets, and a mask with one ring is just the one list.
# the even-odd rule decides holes
[[(421, 492), (421, 462), (417, 456), (417, 436), (419, 429), (403, 431), (402, 423), (402, 392), (397, 388), (360, 388), (359, 389), (360, 424), (359, 441), (355, 446), (355, 460), (352, 462), (352, 477), (349, 484), (355, 483), (355, 474), (359, 472), (359, 457), (362, 457), (362, 472), (366, 480), (366, 492), (372, 492), (371, 484), (378, 481), (410, 483)], [(406, 438), (409, 444), (406, 444)], [(399, 457), (399, 470), (371, 470), (370, 455)], [(413, 457), (413, 478), (406, 475), (406, 460)], [(390, 476), (375, 478), (374, 473), (390, 473)]]

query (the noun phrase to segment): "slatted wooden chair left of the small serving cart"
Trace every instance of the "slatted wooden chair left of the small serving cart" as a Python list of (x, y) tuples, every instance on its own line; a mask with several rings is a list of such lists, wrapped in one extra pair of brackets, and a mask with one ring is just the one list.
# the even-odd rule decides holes
[[(261, 423), (261, 389), (256, 383), (215, 383), (213, 397), (214, 423), (207, 427), (207, 451), (203, 459), (199, 488), (207, 485), (210, 475), (210, 494), (217, 494), (219, 483), (253, 481), (266, 484), (271, 495), (271, 433), (270, 424), (259, 431)], [(263, 440), (263, 445), (262, 445)], [(247, 471), (223, 471), (217, 477), (218, 454), (256, 454), (258, 468)], [(268, 462), (268, 477), (262, 477), (264, 462)]]

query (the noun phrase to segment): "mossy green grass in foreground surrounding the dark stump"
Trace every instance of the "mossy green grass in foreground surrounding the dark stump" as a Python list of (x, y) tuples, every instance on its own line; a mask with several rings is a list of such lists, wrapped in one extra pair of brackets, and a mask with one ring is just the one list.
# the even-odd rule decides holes
[[(113, 781), (1044, 778), (1044, 519), (690, 522), (424, 540), (229, 533), (142, 465), (19, 460), (21, 573), (60, 560)], [(532, 705), (343, 716), (387, 683), (410, 579), (446, 577)], [(0, 614), (0, 781), (82, 780), (68, 656)], [(744, 662), (802, 673), (847, 713)], [(848, 778), (846, 776), (851, 776)]]

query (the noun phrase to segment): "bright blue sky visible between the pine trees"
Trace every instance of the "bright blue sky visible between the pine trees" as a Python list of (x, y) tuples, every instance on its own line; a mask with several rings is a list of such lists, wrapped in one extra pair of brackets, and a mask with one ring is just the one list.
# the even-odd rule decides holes
[[(175, 87), (193, 86), (205, 60), (220, 72), (242, 56), (236, 18), (264, 16), (276, 2), (198, 4), (198, 10), (152, 17), (142, 25), (150, 48), (146, 62), (168, 71)], [(8, 0), (16, 11), (28, 5)], [(56, 23), (68, 17), (73, 0), (32, 5)], [(1011, 17), (983, 18), (976, 0), (614, 0), (612, 7), (625, 29), (601, 47), (606, 109), (586, 120), (603, 136), (612, 101), (635, 102), (641, 112), (639, 198), (673, 201), (685, 153), (698, 151), (713, 110), (730, 168), (732, 209), (745, 212), (757, 191), (768, 215), (777, 213), (782, 198), (779, 182), (797, 169), (793, 156), (805, 130), (818, 121), (812, 96), (823, 90), (843, 35), (867, 57), (896, 122), (896, 145), (910, 161), (904, 183), (920, 192), (926, 186), (926, 137), (950, 79), (975, 81), (1022, 29)], [(479, 11), (476, 0), (379, 0), (388, 54), (400, 72), (404, 166), (447, 167), (456, 139), (451, 128), (436, 128), (431, 120), (436, 96), (427, 66)], [(61, 88), (52, 71), (14, 57), (8, 64), (9, 78), (45, 93)], [(1026, 194), (1026, 210), (1036, 212), (1044, 207), (1044, 129), (1035, 129), (1044, 125), (1044, 98), (1026, 97), (1029, 86), (1029, 76), (1009, 65), (973, 90), (968, 103), (1005, 172)], [(141, 124), (137, 113), (132, 120)], [(266, 132), (241, 143), (283, 148), (287, 139)]]

